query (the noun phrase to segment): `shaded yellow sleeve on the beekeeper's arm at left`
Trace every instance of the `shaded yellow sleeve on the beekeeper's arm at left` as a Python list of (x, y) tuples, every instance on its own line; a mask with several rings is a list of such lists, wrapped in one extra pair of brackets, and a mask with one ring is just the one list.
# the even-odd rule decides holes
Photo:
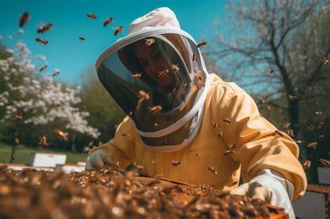
[(108, 143), (90, 150), (89, 154), (97, 149), (103, 149), (113, 161), (119, 161), (120, 168), (125, 168), (135, 159), (135, 126), (127, 116), (118, 125), (115, 136)]

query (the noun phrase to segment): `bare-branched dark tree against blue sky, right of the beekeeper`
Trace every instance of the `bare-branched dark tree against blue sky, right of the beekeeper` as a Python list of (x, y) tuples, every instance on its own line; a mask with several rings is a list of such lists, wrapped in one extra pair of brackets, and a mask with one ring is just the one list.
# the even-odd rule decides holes
[(228, 10), (219, 23), (225, 34), (217, 33), (205, 55), (261, 96), (260, 103), (286, 111), (297, 135), (304, 123), (301, 102), (324, 97), (324, 90), (310, 88), (329, 80), (330, 2), (230, 1)]

